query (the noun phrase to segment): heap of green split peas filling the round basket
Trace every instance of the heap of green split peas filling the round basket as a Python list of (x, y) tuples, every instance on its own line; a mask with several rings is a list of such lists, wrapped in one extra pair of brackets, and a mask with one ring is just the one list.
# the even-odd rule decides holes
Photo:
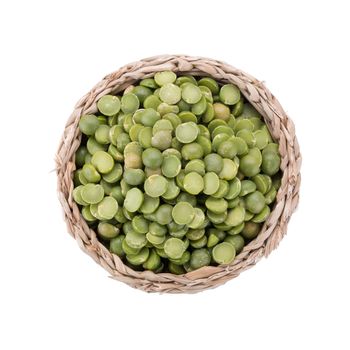
[(135, 270), (229, 264), (260, 232), (280, 186), (278, 145), (232, 84), (158, 72), (79, 122), (73, 198)]

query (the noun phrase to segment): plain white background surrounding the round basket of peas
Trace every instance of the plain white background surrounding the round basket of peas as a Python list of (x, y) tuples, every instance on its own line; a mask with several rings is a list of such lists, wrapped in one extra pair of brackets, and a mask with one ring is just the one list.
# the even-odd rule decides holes
[[(1, 349), (349, 349), (347, 1), (2, 1)], [(68, 235), (54, 154), (76, 101), (143, 57), (224, 60), (296, 124), (301, 201), (268, 259), (217, 289), (146, 294)]]

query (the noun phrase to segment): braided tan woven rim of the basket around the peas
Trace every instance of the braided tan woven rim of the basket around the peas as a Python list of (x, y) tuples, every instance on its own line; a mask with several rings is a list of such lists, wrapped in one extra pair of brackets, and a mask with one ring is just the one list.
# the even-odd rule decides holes
[[(211, 76), (222, 83), (233, 83), (262, 114), (281, 154), (282, 184), (276, 204), (258, 237), (246, 245), (230, 265), (208, 266), (184, 275), (155, 274), (151, 271), (134, 271), (106, 249), (82, 218), (73, 201), (74, 154), (79, 147), (81, 133), (78, 122), (82, 114), (95, 113), (96, 101), (110, 93), (124, 90), (140, 79), (158, 71)], [(157, 56), (130, 63), (107, 75), (75, 106), (66, 124), (56, 155), (58, 196), (64, 210), (68, 231), (81, 249), (104, 267), (112, 278), (146, 292), (195, 293), (219, 286), (237, 277), (255, 265), (262, 256), (275, 249), (287, 230), (287, 224), (299, 199), (301, 156), (295, 136), (294, 124), (262, 82), (220, 61), (190, 56)]]

